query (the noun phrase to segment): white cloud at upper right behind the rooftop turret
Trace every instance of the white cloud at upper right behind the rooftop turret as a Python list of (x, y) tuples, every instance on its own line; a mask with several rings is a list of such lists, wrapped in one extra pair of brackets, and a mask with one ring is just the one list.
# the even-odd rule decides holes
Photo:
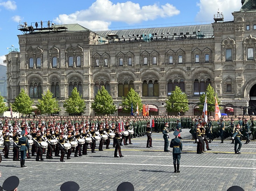
[(196, 15), (196, 21), (213, 21), (213, 15), (217, 14), (218, 9), (223, 13), (224, 21), (228, 21), (233, 19), (231, 13), (239, 11), (242, 4), (241, 0), (200, 0), (197, 6), (200, 11)]

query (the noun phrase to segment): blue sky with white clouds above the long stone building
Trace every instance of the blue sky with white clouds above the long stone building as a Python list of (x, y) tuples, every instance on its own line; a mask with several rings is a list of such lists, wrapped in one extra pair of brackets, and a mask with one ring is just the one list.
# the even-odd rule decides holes
[[(19, 48), (17, 35), (21, 22), (48, 20), (55, 24), (78, 23), (97, 31), (124, 28), (151, 28), (194, 25), (213, 22), (213, 14), (224, 14), (233, 20), (241, 0), (0, 0), (0, 63), (8, 54), (7, 47)], [(179, 24), (177, 24), (179, 23)]]

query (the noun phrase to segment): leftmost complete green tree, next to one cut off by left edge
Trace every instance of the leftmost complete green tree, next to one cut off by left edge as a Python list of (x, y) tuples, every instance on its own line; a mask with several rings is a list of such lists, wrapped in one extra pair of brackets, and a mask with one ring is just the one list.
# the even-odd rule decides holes
[(32, 112), (33, 100), (30, 99), (28, 94), (25, 93), (24, 89), (21, 89), (19, 95), (15, 98), (12, 104), (13, 112), (19, 112), (21, 114), (28, 115)]

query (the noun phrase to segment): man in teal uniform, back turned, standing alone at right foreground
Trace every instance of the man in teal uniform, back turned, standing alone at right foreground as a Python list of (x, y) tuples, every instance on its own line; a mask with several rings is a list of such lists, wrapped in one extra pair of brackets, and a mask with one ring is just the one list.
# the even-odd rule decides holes
[[(174, 139), (171, 140), (170, 147), (172, 149), (172, 157), (173, 157), (173, 165), (174, 165), (174, 173), (180, 173), (180, 157), (182, 151), (182, 142), (181, 139), (178, 138), (179, 131), (174, 131), (173, 135), (175, 136)], [(177, 163), (177, 168), (176, 168)]]

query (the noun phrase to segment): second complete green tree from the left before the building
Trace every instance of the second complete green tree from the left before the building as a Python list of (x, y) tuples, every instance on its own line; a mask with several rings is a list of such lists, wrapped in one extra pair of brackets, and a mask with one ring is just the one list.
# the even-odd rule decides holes
[(56, 98), (53, 98), (53, 93), (50, 90), (47, 90), (45, 95), (42, 95), (42, 99), (38, 100), (39, 104), (37, 104), (37, 108), (40, 110), (41, 114), (51, 114), (57, 113), (60, 111), (60, 107), (58, 105), (58, 101)]

